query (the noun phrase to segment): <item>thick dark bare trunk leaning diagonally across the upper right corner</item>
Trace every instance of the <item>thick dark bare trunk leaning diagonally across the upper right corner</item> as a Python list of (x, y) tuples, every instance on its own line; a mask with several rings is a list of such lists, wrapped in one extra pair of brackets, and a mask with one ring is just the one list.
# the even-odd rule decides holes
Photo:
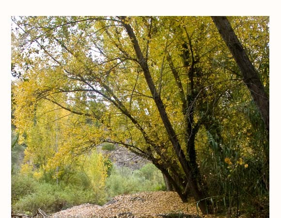
[(262, 115), (265, 127), (269, 132), (269, 98), (265, 93), (264, 85), (259, 78), (257, 71), (250, 62), (248, 55), (235, 35), (226, 16), (212, 16), (212, 19), (217, 26), (221, 37), (231, 51), (235, 62), (243, 75), (244, 83), (250, 90), (251, 96)]

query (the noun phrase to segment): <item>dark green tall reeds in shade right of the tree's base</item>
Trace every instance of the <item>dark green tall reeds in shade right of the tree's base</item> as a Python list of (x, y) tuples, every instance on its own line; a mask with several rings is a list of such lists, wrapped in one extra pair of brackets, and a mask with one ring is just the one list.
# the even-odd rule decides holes
[(209, 195), (216, 196), (212, 198), (216, 211), (229, 217), (266, 217), (269, 192), (263, 154), (249, 153), (235, 140), (219, 144), (211, 134), (208, 143), (200, 167)]

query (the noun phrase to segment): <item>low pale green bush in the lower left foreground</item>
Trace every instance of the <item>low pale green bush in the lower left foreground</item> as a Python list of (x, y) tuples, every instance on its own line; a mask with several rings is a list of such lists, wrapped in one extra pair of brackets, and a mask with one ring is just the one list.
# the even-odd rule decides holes
[[(12, 209), (16, 212), (34, 214), (40, 208), (48, 213), (52, 213), (82, 203), (103, 204), (105, 202), (105, 198), (99, 198), (91, 188), (84, 189), (79, 186), (63, 187), (46, 182), (39, 183), (31, 178), (18, 177), (17, 180), (14, 180), (18, 188), (16, 186), (12, 187), (14, 196), (18, 196), (17, 198), (14, 197), (12, 201)], [(23, 192), (19, 188), (21, 177), (23, 182), (32, 181), (32, 188), (26, 189)], [(20, 195), (17, 195), (17, 193)]]

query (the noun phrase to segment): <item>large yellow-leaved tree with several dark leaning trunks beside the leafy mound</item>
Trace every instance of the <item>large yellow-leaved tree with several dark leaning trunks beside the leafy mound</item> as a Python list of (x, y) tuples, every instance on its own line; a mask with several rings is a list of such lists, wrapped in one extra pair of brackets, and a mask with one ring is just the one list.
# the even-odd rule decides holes
[(211, 212), (198, 159), (210, 144), (199, 137), (217, 134), (227, 145), (226, 130), (235, 133), (244, 114), (226, 107), (249, 95), (209, 17), (13, 21), (12, 62), (24, 78), (15, 91), (21, 136), (36, 125), (40, 107), (53, 105), (73, 118), (61, 127), (67, 143), (58, 160), (121, 144), (151, 160), (183, 201), (191, 193), (203, 214)]

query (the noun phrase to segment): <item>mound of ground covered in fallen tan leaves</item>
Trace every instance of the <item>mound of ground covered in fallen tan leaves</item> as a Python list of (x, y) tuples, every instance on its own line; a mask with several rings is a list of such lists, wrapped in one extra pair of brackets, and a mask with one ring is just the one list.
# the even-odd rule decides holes
[(183, 203), (176, 192), (165, 191), (119, 195), (103, 206), (81, 204), (51, 218), (168, 218), (171, 212), (175, 218), (199, 218), (193, 202)]

